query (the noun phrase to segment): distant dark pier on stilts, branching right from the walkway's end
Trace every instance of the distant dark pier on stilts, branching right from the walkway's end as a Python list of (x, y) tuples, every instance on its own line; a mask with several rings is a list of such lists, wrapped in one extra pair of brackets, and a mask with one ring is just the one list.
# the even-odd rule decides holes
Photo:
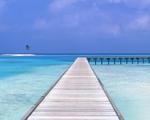
[(150, 56), (90, 56), (89, 62), (100, 64), (145, 64), (150, 63)]

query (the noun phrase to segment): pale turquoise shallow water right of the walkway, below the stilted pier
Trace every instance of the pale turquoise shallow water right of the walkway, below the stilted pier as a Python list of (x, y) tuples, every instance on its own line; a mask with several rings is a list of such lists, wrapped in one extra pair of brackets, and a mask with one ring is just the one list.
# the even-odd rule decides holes
[(125, 120), (150, 120), (150, 65), (93, 65)]

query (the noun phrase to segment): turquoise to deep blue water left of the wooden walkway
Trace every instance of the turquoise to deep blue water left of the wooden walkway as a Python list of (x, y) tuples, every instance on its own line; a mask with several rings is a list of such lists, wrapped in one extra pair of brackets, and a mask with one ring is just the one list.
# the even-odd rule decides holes
[(0, 57), (0, 120), (20, 120), (75, 57)]

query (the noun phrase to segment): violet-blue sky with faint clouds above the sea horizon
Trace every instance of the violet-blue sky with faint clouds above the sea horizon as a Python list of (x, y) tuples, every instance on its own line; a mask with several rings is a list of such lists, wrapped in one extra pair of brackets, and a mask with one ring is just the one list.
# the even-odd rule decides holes
[(150, 53), (150, 0), (0, 0), (0, 53)]

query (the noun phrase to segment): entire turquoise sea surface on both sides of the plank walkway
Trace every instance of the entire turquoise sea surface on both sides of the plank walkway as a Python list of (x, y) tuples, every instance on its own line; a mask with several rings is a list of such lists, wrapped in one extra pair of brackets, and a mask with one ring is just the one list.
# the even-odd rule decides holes
[[(20, 120), (77, 56), (0, 56), (0, 120)], [(92, 67), (125, 120), (150, 120), (149, 64)]]

